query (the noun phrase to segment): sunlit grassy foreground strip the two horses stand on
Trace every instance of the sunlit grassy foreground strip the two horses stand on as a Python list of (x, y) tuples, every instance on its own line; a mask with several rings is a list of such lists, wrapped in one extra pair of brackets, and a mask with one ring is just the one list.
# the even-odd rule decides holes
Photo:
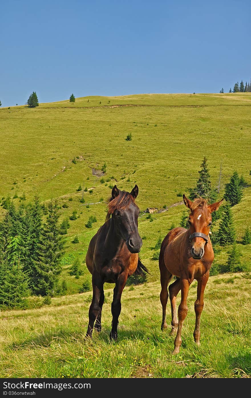
[(90, 293), (53, 298), (51, 305), (40, 309), (5, 311), (0, 323), (0, 377), (250, 378), (251, 279), (241, 274), (209, 278), (200, 347), (193, 341), (196, 284), (189, 290), (182, 347), (175, 357), (171, 326), (160, 331), (158, 282), (134, 290), (125, 287), (117, 343), (109, 340), (112, 289), (105, 292), (103, 330), (99, 336), (93, 333), (92, 341), (84, 340)]

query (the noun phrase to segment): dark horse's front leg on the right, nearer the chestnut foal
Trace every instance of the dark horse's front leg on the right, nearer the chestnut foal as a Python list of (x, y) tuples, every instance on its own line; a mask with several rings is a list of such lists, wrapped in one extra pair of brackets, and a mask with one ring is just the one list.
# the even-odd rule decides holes
[(121, 295), (125, 287), (127, 277), (128, 269), (119, 275), (115, 288), (113, 289), (113, 302), (111, 303), (111, 313), (113, 316), (113, 320), (111, 324), (112, 328), (110, 333), (110, 339), (117, 340), (118, 337), (117, 328), (119, 323), (119, 315), (121, 313)]

